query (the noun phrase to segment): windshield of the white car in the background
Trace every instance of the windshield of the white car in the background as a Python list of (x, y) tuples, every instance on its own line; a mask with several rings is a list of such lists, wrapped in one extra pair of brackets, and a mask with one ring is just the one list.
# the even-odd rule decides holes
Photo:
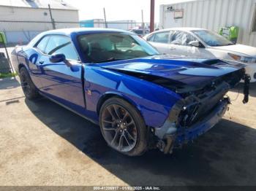
[(227, 46), (233, 44), (229, 40), (225, 39), (225, 37), (211, 31), (196, 30), (192, 31), (192, 33), (194, 33), (196, 36), (202, 39), (203, 42), (211, 47)]

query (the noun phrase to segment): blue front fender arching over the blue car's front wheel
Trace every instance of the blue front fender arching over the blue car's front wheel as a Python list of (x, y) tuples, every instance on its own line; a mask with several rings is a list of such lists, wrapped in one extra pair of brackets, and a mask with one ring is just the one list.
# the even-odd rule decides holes
[[(140, 111), (146, 125), (158, 128), (166, 120), (173, 104), (181, 98), (164, 87), (99, 66), (85, 66), (85, 69), (86, 106), (91, 112), (97, 111), (97, 103), (103, 96), (119, 95)], [(89, 90), (91, 95), (87, 93)]]

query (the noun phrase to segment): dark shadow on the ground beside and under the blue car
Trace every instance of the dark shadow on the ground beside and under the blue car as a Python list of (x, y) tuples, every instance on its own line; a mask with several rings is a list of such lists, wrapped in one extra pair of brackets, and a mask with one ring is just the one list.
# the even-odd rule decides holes
[(173, 155), (127, 157), (107, 146), (99, 127), (58, 104), (26, 100), (31, 112), (84, 155), (129, 185), (246, 185), (256, 182), (256, 130), (222, 120)]

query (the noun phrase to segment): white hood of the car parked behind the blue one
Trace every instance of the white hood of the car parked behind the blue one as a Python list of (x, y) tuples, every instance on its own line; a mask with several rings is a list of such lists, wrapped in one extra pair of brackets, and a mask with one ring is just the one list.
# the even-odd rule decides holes
[(256, 57), (256, 47), (250, 47), (243, 44), (233, 44), (222, 47), (211, 47), (215, 50), (224, 50), (226, 52), (237, 53), (238, 55)]

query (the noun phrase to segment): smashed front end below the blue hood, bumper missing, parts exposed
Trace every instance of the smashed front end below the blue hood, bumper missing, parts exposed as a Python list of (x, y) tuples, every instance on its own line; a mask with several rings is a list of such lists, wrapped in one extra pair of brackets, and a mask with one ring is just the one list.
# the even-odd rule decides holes
[[(235, 77), (234, 77), (235, 76)], [(176, 102), (161, 128), (154, 129), (157, 148), (165, 154), (181, 147), (216, 125), (228, 109), (230, 98), (226, 95), (240, 79), (244, 79), (244, 100), (248, 102), (249, 76), (244, 70), (212, 81), (201, 90), (179, 93), (183, 98)]]

